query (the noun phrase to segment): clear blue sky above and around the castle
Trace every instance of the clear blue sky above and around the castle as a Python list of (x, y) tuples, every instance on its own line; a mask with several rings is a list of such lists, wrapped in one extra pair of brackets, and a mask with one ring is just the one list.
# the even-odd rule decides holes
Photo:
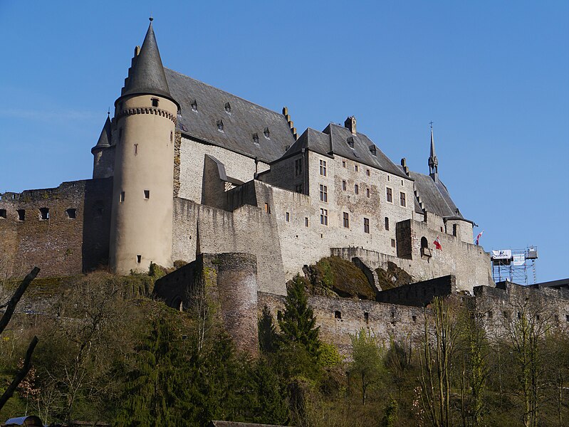
[(150, 13), (165, 66), (280, 111), (357, 117), (439, 174), (486, 251), (536, 245), (569, 276), (568, 1), (0, 0), (0, 191), (90, 178)]

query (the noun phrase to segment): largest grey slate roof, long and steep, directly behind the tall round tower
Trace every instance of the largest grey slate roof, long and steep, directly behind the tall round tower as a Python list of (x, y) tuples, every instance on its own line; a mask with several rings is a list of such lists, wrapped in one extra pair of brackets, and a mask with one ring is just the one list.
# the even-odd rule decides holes
[[(165, 73), (172, 97), (180, 105), (177, 127), (182, 134), (267, 163), (281, 157), (286, 147), (295, 143), (290, 125), (278, 112), (168, 68)], [(197, 111), (192, 108), (194, 102)], [(219, 120), (223, 132), (218, 130)], [(254, 134), (259, 144), (255, 144)]]

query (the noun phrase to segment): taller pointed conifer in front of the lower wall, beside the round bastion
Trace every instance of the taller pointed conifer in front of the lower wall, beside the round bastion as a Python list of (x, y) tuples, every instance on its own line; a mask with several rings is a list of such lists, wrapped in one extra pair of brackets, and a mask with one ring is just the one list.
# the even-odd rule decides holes
[(288, 286), (283, 317), (278, 320), (281, 339), (284, 342), (302, 344), (313, 358), (320, 352), (320, 327), (315, 327), (316, 319), (308, 296), (299, 275)]

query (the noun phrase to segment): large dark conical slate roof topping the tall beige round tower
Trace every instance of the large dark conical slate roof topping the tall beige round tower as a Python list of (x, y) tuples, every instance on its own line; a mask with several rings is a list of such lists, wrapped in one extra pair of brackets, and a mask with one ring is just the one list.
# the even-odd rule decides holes
[(140, 53), (135, 58), (132, 72), (127, 78), (121, 97), (138, 94), (161, 95), (172, 99), (152, 29), (152, 19), (150, 19), (145, 41), (142, 43)]

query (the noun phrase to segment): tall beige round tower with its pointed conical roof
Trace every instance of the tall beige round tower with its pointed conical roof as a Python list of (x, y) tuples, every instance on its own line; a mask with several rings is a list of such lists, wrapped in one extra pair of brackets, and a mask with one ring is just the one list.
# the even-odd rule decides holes
[(172, 265), (174, 132), (179, 104), (169, 93), (152, 19), (115, 101), (116, 141), (110, 267), (115, 273)]

